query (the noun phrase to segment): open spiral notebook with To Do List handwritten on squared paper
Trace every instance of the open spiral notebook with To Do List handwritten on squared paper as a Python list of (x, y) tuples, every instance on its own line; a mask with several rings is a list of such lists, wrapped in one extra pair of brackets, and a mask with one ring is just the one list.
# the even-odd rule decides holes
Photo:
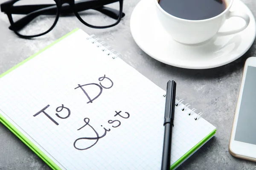
[[(76, 29), (0, 76), (0, 121), (54, 170), (159, 170), (165, 93)], [(215, 135), (197, 113), (176, 99), (171, 169)]]

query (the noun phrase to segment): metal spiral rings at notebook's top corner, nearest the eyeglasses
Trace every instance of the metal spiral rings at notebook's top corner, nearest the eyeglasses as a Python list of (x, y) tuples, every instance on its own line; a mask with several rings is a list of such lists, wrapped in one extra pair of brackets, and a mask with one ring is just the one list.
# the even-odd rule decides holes
[(113, 59), (116, 59), (117, 57), (122, 57), (122, 55), (121, 55), (119, 52), (117, 52), (116, 50), (114, 50), (114, 49), (111, 49), (111, 50), (110, 50), (111, 46), (109, 46), (109, 45), (104, 46), (104, 44), (106, 44), (104, 41), (99, 42), (100, 38), (94, 38), (94, 37), (95, 37), (95, 35), (92, 34), (92, 35), (90, 35), (89, 37), (87, 37), (86, 39), (87, 39), (87, 40), (92, 39), (92, 43), (93, 43), (93, 44), (98, 42), (96, 46), (97, 46), (97, 47), (102, 47), (102, 51), (107, 51), (107, 50), (108, 50), (107, 55), (113, 54), (113, 55), (114, 55), (114, 56), (112, 57)]

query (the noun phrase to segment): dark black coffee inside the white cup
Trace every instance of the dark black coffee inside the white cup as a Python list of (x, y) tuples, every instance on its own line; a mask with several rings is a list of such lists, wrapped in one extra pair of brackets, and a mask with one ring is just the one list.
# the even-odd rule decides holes
[(221, 14), (225, 0), (159, 0), (159, 5), (169, 14), (186, 20), (204, 20)]

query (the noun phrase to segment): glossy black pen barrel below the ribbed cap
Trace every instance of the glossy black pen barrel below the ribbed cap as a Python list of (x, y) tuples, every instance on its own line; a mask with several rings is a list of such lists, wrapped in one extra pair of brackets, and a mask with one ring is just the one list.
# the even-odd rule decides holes
[(161, 170), (170, 170), (171, 163), (171, 140), (172, 140), (172, 125), (166, 123), (163, 140), (163, 155)]

